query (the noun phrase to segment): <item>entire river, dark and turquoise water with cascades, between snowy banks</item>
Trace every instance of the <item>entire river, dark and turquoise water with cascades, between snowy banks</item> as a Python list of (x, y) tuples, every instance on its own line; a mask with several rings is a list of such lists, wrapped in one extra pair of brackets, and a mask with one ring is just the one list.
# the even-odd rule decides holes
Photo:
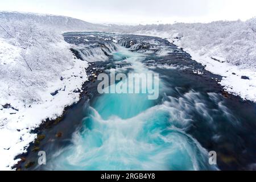
[[(74, 44), (79, 59), (92, 64), (87, 93), (67, 109), (63, 121), (42, 131), (46, 138), (40, 150), (46, 151), (47, 165), (28, 169), (255, 168), (255, 104), (222, 96), (221, 77), (205, 71), (188, 53), (150, 36), (71, 32), (64, 38)], [(158, 99), (148, 100), (149, 93), (98, 94), (94, 73), (110, 68), (158, 73)], [(56, 138), (59, 131), (63, 135)], [(217, 165), (209, 164), (209, 151), (216, 151)], [(27, 161), (37, 157), (28, 150)]]

